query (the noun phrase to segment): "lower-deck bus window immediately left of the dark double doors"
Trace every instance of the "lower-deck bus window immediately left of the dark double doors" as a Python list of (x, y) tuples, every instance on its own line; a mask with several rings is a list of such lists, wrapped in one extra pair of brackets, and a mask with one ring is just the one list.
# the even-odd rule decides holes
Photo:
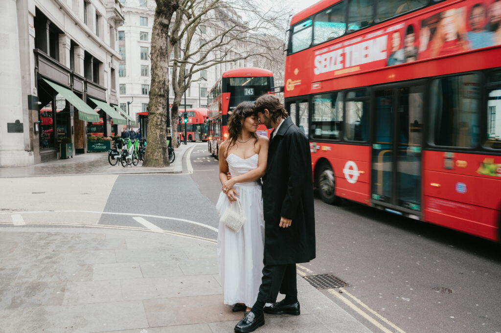
[(364, 90), (351, 91), (346, 95), (346, 140), (367, 141), (369, 132), (369, 103)]

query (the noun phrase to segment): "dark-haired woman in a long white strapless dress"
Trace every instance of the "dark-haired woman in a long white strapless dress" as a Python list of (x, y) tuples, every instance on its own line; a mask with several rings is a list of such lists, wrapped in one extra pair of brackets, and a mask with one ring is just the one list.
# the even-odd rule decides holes
[(253, 104), (238, 104), (228, 119), (228, 140), (219, 146), (222, 190), (216, 209), (219, 216), (230, 205), (238, 211), (234, 202), (239, 199), (245, 217), (239, 232), (219, 222), (217, 235), (224, 304), (234, 304), (235, 312), (248, 311), (256, 302), (263, 270), (265, 220), (260, 179), (266, 171), (269, 140), (256, 134), (258, 125)]

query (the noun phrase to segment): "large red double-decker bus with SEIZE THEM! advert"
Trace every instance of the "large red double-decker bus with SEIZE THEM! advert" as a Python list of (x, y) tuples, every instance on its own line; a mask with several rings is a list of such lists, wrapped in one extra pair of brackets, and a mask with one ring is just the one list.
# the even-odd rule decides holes
[(321, 198), (499, 240), (501, 2), (324, 0), (291, 20), (285, 104)]

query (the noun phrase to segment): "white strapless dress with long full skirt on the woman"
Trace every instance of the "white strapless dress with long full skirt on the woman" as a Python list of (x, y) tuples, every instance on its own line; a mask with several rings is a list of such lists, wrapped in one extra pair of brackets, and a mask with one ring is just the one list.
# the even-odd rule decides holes
[[(226, 157), (229, 172), (235, 177), (258, 167), (258, 154), (247, 159), (235, 154)], [(239, 194), (245, 223), (234, 232), (219, 222), (217, 234), (217, 259), (219, 276), (224, 293), (224, 304), (244, 303), (252, 307), (258, 298), (261, 285), (265, 243), (265, 219), (263, 194), (258, 182), (236, 183), (233, 188)], [(221, 191), (216, 209), (219, 216), (227, 207), (238, 211)]]

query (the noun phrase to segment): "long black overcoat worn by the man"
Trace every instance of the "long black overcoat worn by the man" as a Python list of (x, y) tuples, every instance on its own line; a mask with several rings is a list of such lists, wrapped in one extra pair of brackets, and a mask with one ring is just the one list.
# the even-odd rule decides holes
[[(265, 264), (308, 262), (315, 258), (315, 213), (310, 144), (292, 119), (270, 141), (263, 177)], [(292, 219), (279, 227), (280, 217)]]

